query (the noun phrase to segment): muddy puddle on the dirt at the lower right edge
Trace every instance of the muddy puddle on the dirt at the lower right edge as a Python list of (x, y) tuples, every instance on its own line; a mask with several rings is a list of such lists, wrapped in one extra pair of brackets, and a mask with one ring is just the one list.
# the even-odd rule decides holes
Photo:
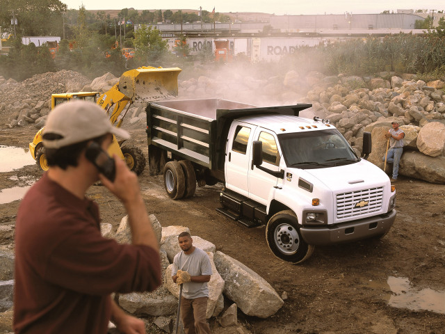
[(369, 280), (366, 285), (390, 293), (384, 298), (393, 308), (407, 308), (413, 311), (427, 310), (445, 314), (445, 292), (430, 288), (417, 289), (408, 278), (389, 276), (386, 282)]

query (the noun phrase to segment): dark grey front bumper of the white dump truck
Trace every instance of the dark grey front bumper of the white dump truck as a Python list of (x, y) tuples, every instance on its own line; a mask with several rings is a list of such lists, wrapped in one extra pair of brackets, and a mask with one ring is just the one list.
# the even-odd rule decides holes
[(387, 234), (396, 220), (396, 210), (347, 223), (324, 226), (302, 226), (303, 239), (309, 245), (322, 246), (357, 241)]

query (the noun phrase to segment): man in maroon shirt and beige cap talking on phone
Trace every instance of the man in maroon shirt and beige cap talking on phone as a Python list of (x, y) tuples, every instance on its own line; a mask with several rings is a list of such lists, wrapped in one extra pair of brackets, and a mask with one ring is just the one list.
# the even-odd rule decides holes
[[(86, 155), (97, 143), (104, 157), (113, 134), (129, 138), (92, 102), (49, 113), (43, 134), (49, 170), (22, 200), (15, 225), (15, 333), (106, 333), (109, 320), (122, 333), (145, 333), (144, 322), (111, 299), (113, 292), (161, 285), (159, 245), (138, 180), (114, 157), (111, 182), (98, 169), (110, 161)], [(86, 198), (97, 180), (127, 210), (132, 244), (102, 237), (99, 209)]]

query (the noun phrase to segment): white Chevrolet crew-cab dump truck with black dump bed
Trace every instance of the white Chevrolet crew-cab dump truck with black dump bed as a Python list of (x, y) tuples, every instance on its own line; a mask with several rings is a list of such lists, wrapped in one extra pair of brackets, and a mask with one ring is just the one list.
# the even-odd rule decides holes
[(387, 234), (396, 189), (358, 157), (326, 120), (299, 117), (311, 104), (257, 107), (227, 100), (170, 100), (147, 106), (149, 170), (178, 200), (196, 184), (222, 182), (218, 212), (253, 228), (282, 260), (300, 263), (314, 246)]

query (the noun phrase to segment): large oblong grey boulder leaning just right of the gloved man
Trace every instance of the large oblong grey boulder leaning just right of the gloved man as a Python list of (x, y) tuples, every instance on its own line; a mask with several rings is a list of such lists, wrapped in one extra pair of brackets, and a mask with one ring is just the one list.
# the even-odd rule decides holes
[(219, 251), (215, 253), (213, 260), (225, 280), (225, 296), (234, 301), (246, 315), (267, 318), (280, 310), (284, 301), (252, 269)]

